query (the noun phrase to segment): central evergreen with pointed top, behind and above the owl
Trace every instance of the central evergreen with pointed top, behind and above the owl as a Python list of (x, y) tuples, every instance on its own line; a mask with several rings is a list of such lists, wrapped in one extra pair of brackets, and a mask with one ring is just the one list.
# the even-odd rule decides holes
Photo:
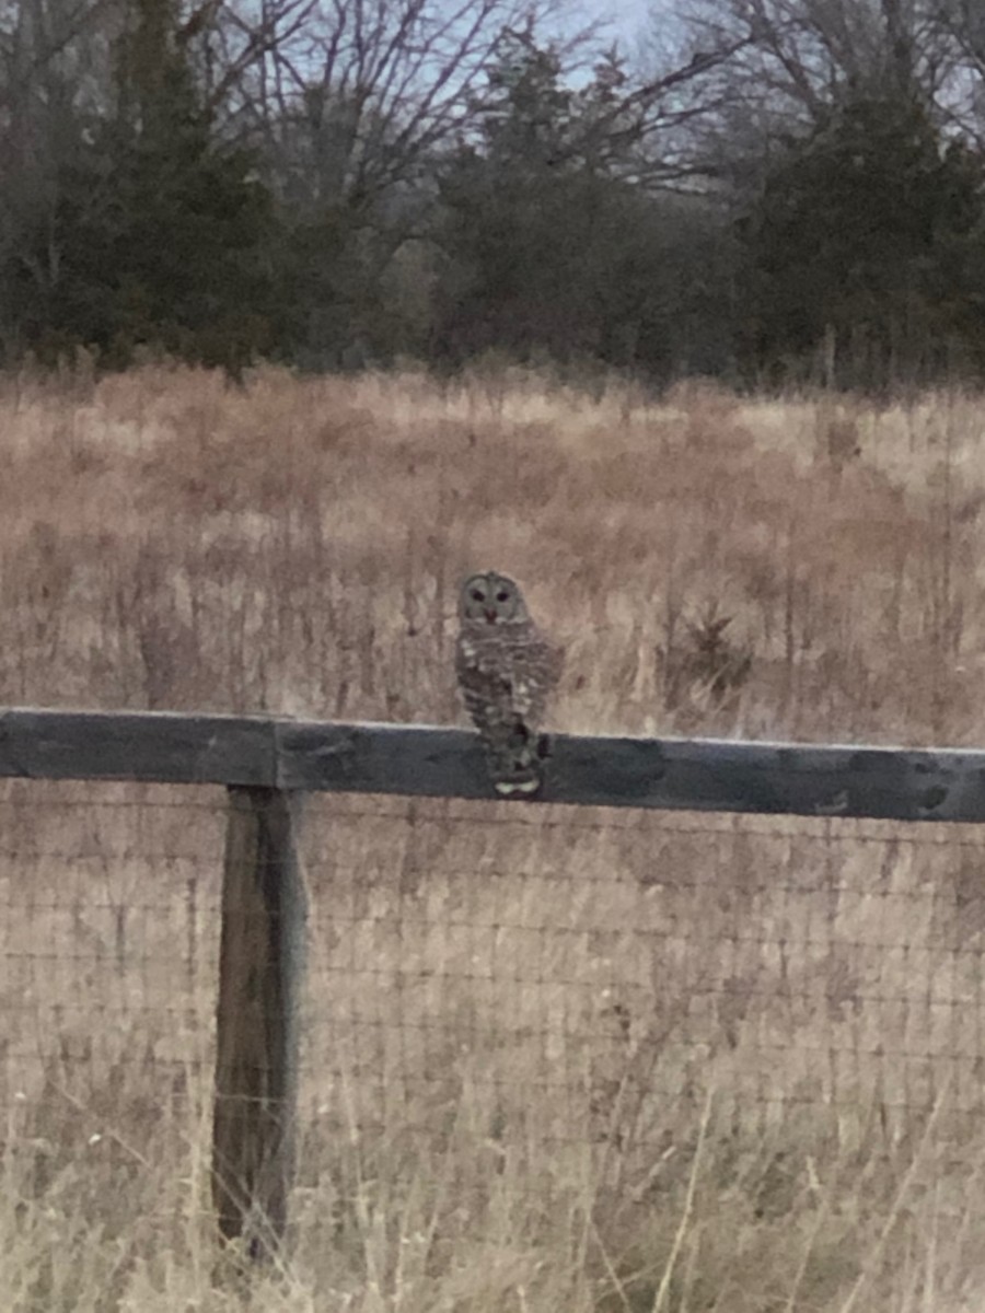
[[(687, 222), (707, 227), (707, 207), (658, 200), (623, 176), (632, 134), (611, 113), (621, 76), (603, 62), (575, 93), (529, 35), (504, 47), (482, 137), (441, 176), (440, 353), (546, 352), (653, 374), (680, 364), (678, 326), (707, 284), (701, 243), (687, 251), (679, 236)], [(693, 281), (682, 286), (682, 272)]]

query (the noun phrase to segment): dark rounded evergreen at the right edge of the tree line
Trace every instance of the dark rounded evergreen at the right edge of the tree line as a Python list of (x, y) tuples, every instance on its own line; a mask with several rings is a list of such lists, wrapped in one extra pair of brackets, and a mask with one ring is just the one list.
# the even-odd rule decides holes
[(793, 143), (743, 218), (746, 360), (789, 365), (834, 334), (841, 381), (932, 373), (985, 351), (980, 169), (919, 100), (856, 97)]

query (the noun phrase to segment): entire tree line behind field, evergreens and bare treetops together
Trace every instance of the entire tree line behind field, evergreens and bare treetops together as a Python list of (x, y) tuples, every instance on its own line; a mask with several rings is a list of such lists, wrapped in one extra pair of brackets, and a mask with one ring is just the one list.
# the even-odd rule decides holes
[(0, 365), (985, 373), (985, 7), (0, 0)]

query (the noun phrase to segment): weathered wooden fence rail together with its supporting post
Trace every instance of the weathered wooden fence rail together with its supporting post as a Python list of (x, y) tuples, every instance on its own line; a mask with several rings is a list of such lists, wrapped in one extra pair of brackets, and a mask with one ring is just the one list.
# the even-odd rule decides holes
[[(306, 918), (299, 798), (317, 790), (495, 798), (477, 737), (410, 725), (25, 708), (0, 713), (0, 776), (227, 788), (213, 1195), (226, 1237), (272, 1253), (293, 1170)], [(981, 822), (985, 752), (557, 735), (537, 801)]]

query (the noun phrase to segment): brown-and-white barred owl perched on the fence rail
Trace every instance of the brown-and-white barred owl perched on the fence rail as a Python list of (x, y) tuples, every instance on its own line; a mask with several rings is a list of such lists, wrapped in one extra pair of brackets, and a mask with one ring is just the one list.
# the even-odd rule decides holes
[(504, 797), (533, 794), (542, 784), (538, 729), (561, 675), (561, 649), (533, 624), (514, 580), (494, 570), (465, 580), (458, 618), (458, 687), (486, 746), (492, 784)]

